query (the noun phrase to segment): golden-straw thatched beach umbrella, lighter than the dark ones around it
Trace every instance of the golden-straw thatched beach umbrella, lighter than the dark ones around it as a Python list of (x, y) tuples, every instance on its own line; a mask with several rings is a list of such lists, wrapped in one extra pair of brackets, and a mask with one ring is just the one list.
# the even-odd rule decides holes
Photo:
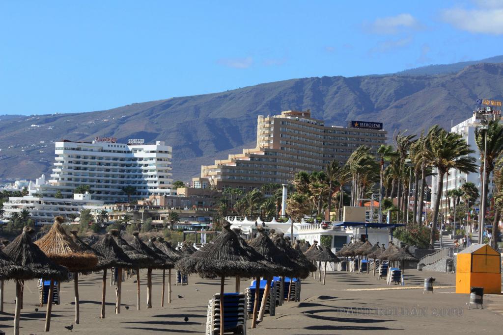
[[(79, 303), (78, 303), (78, 273), (91, 272), (98, 264), (98, 257), (93, 252), (82, 250), (72, 238), (66, 234), (61, 226), (64, 219), (62, 216), (54, 218), (54, 224), (47, 234), (37, 240), (35, 244), (47, 255), (54, 263), (65, 266), (73, 272), (73, 289), (75, 292), (75, 323), (79, 323)], [(51, 284), (52, 285), (52, 284)], [(47, 302), (52, 304), (52, 300)], [(49, 307), (48, 307), (49, 309)], [(49, 331), (50, 314), (46, 322), (46, 330)]]

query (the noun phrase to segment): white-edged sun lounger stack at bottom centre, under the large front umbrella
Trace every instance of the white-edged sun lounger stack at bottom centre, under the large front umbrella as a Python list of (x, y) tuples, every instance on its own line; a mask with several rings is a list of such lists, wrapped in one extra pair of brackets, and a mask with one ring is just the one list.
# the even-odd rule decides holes
[[(224, 331), (234, 334), (246, 335), (246, 314), (244, 307), (244, 294), (224, 293)], [(220, 333), (220, 294), (215, 294), (208, 301), (208, 314), (206, 317), (206, 335)]]

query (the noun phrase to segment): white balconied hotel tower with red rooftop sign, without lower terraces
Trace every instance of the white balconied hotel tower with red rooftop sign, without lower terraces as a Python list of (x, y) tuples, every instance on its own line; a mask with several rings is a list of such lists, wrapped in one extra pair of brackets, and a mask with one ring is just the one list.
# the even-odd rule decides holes
[(131, 200), (171, 194), (172, 147), (162, 141), (145, 145), (97, 138), (93, 142), (62, 140), (55, 146), (50, 179), (30, 195), (54, 197), (59, 191), (63, 198), (72, 199), (81, 185), (89, 185), (92, 198), (105, 203), (126, 202), (128, 196), (122, 191), (126, 186), (135, 188)]

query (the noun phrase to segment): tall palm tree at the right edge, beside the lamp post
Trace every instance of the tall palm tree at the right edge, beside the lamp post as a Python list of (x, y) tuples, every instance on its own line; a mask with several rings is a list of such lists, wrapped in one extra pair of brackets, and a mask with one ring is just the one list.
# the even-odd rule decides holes
[[(480, 151), (480, 161), (483, 162), (485, 159), (485, 177), (482, 178), (483, 174), (483, 165), (480, 164), (480, 176), (481, 181), (484, 180), (484, 194), (482, 194), (482, 202), (487, 203), (487, 192), (489, 185), (489, 175), (494, 170), (494, 163), (497, 158), (503, 152), (503, 124), (500, 124), (498, 121), (489, 121), (487, 125), (487, 129), (475, 129), (475, 142), (477, 143), (478, 150)], [(484, 149), (486, 152), (486, 157), (484, 157)], [(482, 231), (484, 228), (484, 216), (483, 212), (485, 208), (480, 209), (481, 215), (481, 227), (479, 231)], [(500, 211), (498, 208), (494, 211), (494, 219), (497, 218), (499, 221)], [(495, 241), (497, 240), (498, 235), (498, 227), (497, 225), (493, 225), (493, 245), (495, 245)]]

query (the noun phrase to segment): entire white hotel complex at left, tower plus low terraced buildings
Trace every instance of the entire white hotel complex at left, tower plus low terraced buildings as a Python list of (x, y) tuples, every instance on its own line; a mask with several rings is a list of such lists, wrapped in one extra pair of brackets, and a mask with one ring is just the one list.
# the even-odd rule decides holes
[[(96, 138), (93, 142), (62, 140), (55, 145), (51, 178), (46, 181), (42, 176), (30, 183), (27, 196), (9, 198), (4, 203), (4, 220), (27, 208), (36, 224), (49, 224), (56, 215), (126, 202), (128, 195), (122, 189), (127, 186), (135, 188), (131, 200), (171, 193), (172, 147), (162, 141), (143, 144), (142, 140), (130, 140), (124, 144), (116, 143), (115, 138)], [(81, 185), (89, 185), (91, 194), (74, 194)], [(55, 197), (58, 192), (62, 198)]]

